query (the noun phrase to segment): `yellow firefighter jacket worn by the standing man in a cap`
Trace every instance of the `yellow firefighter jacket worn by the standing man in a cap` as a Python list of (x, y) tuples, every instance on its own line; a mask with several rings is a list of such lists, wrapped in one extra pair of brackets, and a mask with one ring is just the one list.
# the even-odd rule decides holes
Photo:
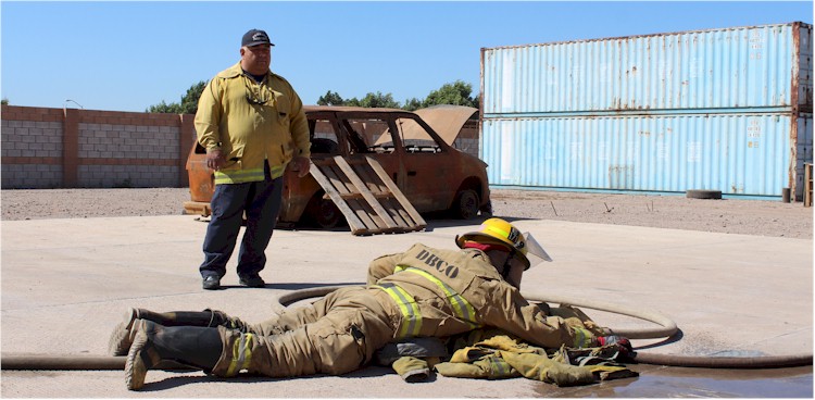
[(272, 72), (255, 83), (240, 62), (210, 80), (195, 123), (201, 146), (226, 158), (215, 185), (263, 180), (264, 162), (277, 178), (293, 155), (311, 155), (303, 104), (291, 85)]

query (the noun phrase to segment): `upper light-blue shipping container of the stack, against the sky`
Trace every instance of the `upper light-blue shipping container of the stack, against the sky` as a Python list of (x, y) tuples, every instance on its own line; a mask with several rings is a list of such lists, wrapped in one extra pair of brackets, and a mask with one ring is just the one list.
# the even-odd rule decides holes
[(811, 112), (812, 25), (481, 49), (481, 84), (487, 115)]

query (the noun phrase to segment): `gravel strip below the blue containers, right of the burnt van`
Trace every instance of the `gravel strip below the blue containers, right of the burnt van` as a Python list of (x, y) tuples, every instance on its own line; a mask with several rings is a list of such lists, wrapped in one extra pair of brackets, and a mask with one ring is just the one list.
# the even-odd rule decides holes
[(496, 190), (496, 216), (812, 239), (812, 208), (768, 200)]

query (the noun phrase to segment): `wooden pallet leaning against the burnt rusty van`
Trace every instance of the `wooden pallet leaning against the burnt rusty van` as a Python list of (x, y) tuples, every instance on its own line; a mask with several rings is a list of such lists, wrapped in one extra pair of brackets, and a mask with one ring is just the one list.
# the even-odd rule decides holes
[(388, 173), (369, 157), (312, 160), (310, 172), (346, 216), (353, 235), (405, 233), (427, 226)]

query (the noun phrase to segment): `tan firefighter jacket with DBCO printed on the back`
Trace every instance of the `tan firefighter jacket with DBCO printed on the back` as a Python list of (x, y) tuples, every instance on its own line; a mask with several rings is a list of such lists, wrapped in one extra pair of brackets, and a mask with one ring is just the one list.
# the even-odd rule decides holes
[(601, 332), (568, 326), (529, 304), (476, 249), (443, 250), (414, 245), (368, 266), (368, 285), (390, 295), (401, 311), (396, 341), (448, 337), (492, 326), (544, 348), (592, 345)]

